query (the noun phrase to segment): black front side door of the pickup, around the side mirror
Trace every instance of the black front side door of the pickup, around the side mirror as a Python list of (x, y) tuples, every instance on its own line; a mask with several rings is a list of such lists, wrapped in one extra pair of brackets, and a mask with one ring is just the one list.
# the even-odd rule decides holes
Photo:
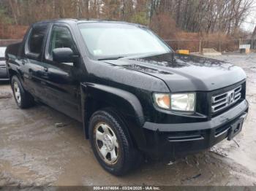
[(70, 117), (80, 120), (80, 81), (79, 60), (74, 63), (56, 63), (53, 61), (53, 50), (69, 47), (75, 55), (79, 55), (78, 48), (72, 36), (71, 29), (65, 24), (53, 24), (50, 27), (48, 42), (45, 47), (44, 63), (45, 102), (53, 108), (64, 112)]

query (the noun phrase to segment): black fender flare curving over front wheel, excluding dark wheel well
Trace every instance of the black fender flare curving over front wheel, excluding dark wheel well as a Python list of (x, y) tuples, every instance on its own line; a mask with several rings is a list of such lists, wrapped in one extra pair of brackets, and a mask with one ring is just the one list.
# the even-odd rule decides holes
[[(143, 115), (143, 107), (140, 104), (139, 99), (132, 93), (126, 90), (121, 90), (116, 87), (110, 87), (107, 85), (99, 85), (95, 83), (82, 83), (80, 85), (81, 92), (81, 111), (83, 119), (83, 130), (86, 139), (89, 139), (89, 112), (86, 111), (87, 104), (90, 103), (89, 99), (93, 98), (96, 101), (104, 101), (115, 109), (125, 108), (126, 117), (132, 117), (132, 127), (129, 128), (129, 132), (135, 139), (138, 147), (143, 147), (146, 144), (146, 139), (143, 135), (143, 124), (145, 123)], [(123, 109), (124, 111), (124, 109)]]

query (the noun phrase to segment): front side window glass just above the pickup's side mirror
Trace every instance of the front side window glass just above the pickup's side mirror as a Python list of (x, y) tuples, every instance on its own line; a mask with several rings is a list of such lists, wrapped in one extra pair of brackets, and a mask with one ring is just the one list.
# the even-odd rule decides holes
[(53, 49), (61, 47), (69, 47), (75, 52), (75, 43), (73, 42), (72, 34), (67, 27), (53, 26), (48, 50), (50, 58), (53, 58)]

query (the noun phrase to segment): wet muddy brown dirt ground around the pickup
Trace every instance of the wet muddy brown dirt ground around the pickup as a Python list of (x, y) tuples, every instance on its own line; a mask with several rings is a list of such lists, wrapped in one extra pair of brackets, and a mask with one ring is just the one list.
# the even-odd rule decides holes
[(250, 109), (242, 132), (210, 151), (169, 165), (145, 162), (122, 177), (100, 167), (79, 122), (42, 104), (18, 109), (10, 85), (1, 83), (0, 186), (256, 185), (256, 53), (217, 58), (246, 71)]

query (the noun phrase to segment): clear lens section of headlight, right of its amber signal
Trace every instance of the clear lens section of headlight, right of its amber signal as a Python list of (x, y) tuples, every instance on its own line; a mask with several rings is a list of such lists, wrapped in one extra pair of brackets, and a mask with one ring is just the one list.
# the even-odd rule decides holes
[(170, 95), (170, 109), (181, 112), (195, 111), (195, 93), (174, 93)]

